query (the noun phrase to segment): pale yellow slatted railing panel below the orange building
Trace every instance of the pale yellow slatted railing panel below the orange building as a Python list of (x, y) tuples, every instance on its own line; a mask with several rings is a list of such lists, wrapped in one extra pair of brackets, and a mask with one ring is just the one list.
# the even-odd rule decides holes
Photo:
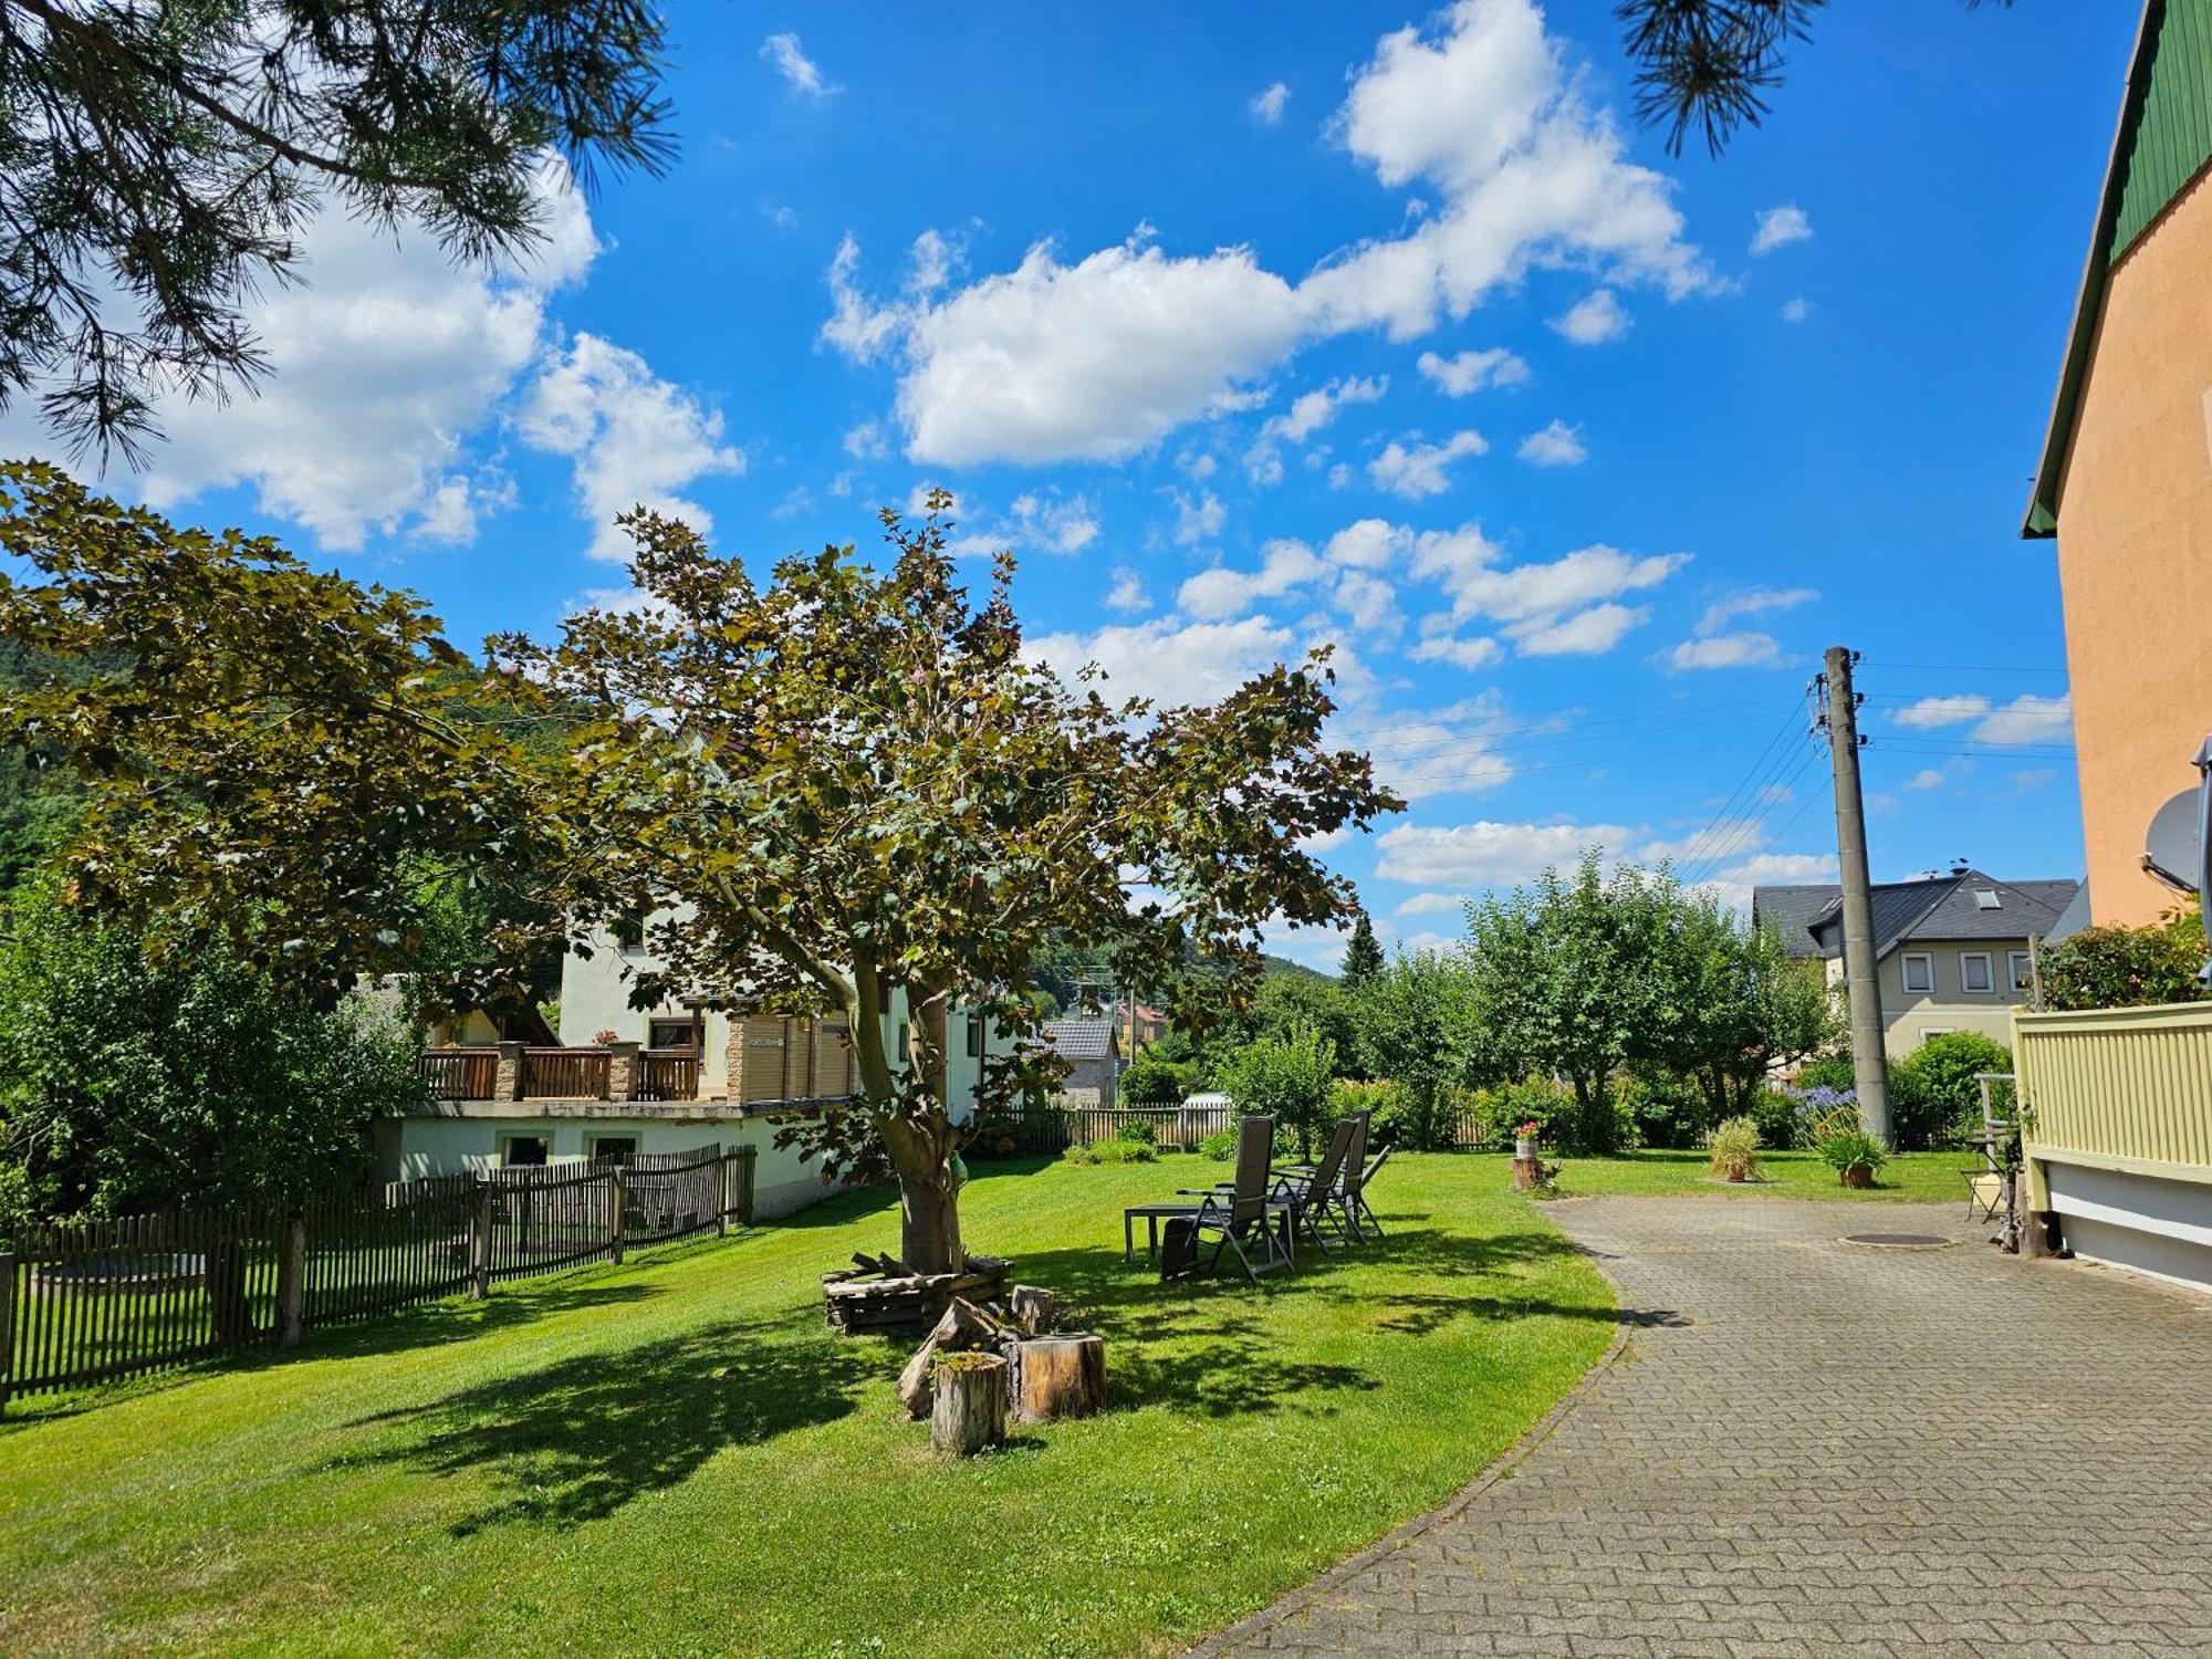
[(2013, 1013), (2031, 1201), (2044, 1164), (2212, 1183), (2212, 1002)]

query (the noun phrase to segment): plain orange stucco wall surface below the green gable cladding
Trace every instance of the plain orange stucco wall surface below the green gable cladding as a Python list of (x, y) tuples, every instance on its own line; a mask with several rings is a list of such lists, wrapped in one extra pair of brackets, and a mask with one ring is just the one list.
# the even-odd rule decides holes
[(2150, 816), (2212, 732), (2212, 181), (2112, 268), (2059, 489), (2090, 918), (2150, 922)]

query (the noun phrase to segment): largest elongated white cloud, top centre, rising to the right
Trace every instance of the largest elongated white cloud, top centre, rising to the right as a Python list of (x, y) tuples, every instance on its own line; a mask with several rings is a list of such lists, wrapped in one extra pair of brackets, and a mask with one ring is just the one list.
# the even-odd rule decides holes
[(1385, 184), (1433, 186), (1442, 206), (1303, 279), (1250, 248), (1168, 257), (1139, 232), (1073, 263), (1037, 243), (1011, 272), (887, 307), (852, 292), (847, 263), (823, 334), (863, 361), (896, 336), (911, 458), (1035, 465), (1133, 456), (1314, 338), (1409, 338), (1535, 265), (1672, 299), (1714, 288), (1670, 181), (1626, 159), (1533, 0), (1460, 0), (1433, 35), (1385, 35), (1334, 131)]

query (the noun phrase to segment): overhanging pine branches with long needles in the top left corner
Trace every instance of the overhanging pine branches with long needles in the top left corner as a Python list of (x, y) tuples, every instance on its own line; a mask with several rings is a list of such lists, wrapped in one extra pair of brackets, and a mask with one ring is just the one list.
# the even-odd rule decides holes
[(135, 456), (263, 367), (243, 305), (325, 199), (526, 252), (549, 148), (666, 161), (659, 51), (644, 0), (0, 0), (0, 407)]

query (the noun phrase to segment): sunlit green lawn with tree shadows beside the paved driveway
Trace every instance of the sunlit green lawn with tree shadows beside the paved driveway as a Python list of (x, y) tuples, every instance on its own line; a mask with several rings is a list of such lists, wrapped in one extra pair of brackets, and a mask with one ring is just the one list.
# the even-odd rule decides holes
[(816, 1274), (896, 1243), (858, 1197), (15, 1405), (0, 1652), (1175, 1650), (1440, 1502), (1613, 1334), (1491, 1157), (1394, 1159), (1385, 1248), (1261, 1287), (1121, 1265), (1121, 1203), (1217, 1175), (978, 1175), (971, 1248), (1091, 1307), (1115, 1402), (958, 1467), (896, 1416), (905, 1352), (823, 1332)]

